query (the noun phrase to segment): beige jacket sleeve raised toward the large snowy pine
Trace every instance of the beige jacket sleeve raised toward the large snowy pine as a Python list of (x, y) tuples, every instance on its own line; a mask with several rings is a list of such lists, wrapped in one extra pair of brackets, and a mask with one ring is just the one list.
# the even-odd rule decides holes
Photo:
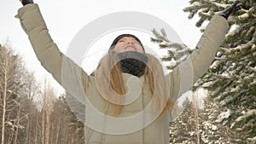
[(229, 28), (229, 23), (223, 16), (213, 15), (196, 49), (168, 75), (172, 101), (177, 101), (180, 95), (191, 89), (207, 72)]

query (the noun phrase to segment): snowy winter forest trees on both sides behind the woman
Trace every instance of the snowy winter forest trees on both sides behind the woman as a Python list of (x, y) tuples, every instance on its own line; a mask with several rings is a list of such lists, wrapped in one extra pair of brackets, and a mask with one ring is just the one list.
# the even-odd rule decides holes
[[(183, 12), (188, 19), (199, 16), (195, 26), (203, 32), (212, 15), (233, 2), (190, 0)], [(242, 1), (229, 21), (212, 66), (170, 123), (171, 144), (256, 143), (256, 1)], [(193, 52), (186, 43), (172, 43), (164, 29), (152, 32), (152, 43), (167, 51), (162, 60), (168, 69)], [(207, 91), (203, 107), (197, 102), (201, 89)], [(0, 144), (83, 144), (84, 124), (70, 110), (67, 95), (55, 95), (9, 44), (0, 45)]]

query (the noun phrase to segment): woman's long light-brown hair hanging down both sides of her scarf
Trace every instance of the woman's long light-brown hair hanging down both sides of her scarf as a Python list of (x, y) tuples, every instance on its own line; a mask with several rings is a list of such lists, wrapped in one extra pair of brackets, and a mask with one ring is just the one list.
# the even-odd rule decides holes
[[(170, 99), (169, 86), (167, 84), (163, 68), (160, 61), (153, 55), (145, 54), (148, 57), (148, 63), (144, 71), (145, 83), (149, 84), (149, 89), (152, 94), (153, 112), (160, 112), (163, 115), (166, 110), (172, 112), (174, 106)], [(110, 103), (114, 105), (114, 115), (117, 116), (121, 112), (124, 105), (122, 102), (125, 99), (125, 86), (121, 75), (121, 66), (119, 56), (113, 50), (105, 55), (100, 66), (96, 70), (96, 83), (101, 95), (106, 99), (106, 110)], [(112, 102), (113, 101), (113, 102)]]

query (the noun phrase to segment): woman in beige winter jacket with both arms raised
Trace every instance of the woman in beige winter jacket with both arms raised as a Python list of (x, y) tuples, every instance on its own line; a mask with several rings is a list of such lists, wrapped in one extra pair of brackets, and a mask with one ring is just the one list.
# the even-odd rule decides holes
[[(89, 144), (169, 143), (168, 115), (177, 98), (207, 72), (229, 30), (226, 19), (234, 10), (233, 6), (213, 16), (190, 55), (191, 75), (186, 74), (191, 70), (184, 61), (182, 69), (177, 67), (165, 76), (160, 61), (147, 54), (143, 43), (131, 34), (116, 37), (108, 55), (102, 58), (96, 71), (88, 75), (57, 48), (38, 4), (32, 0), (20, 2), (24, 7), (19, 9), (17, 17), (38, 60), (67, 91), (86, 99), (84, 136), (85, 143)], [(132, 81), (134, 77), (140, 83)], [(127, 119), (130, 121), (126, 123)]]

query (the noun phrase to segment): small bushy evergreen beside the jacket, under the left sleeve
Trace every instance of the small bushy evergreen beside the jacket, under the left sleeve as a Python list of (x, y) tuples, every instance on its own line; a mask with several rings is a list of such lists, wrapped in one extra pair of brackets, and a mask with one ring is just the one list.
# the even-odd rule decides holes
[[(55, 144), (74, 143), (84, 144), (84, 124), (75, 115), (70, 107), (73, 107), (72, 96), (68, 94), (61, 95), (54, 104), (53, 116), (58, 116), (53, 122), (55, 125)], [(78, 105), (78, 103), (75, 103)], [(79, 106), (77, 106), (79, 107)]]

